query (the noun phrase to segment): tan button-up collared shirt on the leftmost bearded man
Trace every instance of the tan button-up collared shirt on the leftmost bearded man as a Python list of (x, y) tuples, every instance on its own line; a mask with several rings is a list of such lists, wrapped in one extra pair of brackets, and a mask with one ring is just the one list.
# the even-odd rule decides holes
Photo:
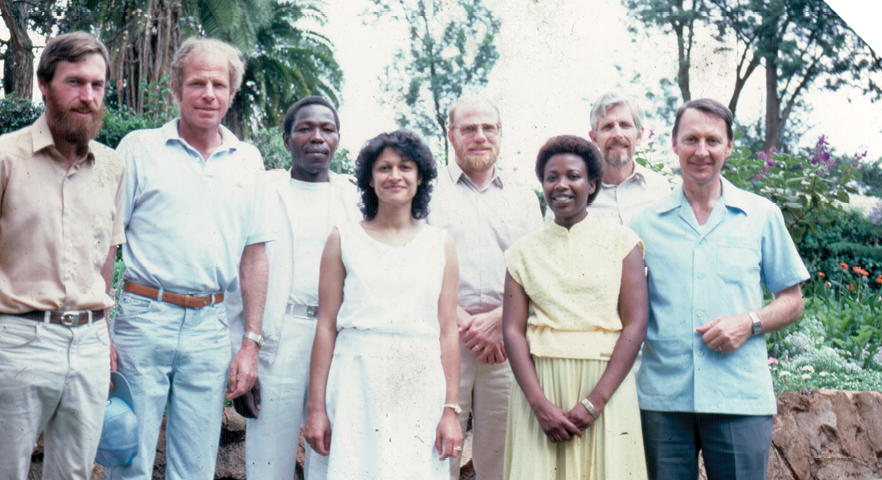
[(124, 173), (97, 142), (68, 169), (45, 113), (0, 137), (0, 313), (113, 306), (100, 270), (125, 242)]

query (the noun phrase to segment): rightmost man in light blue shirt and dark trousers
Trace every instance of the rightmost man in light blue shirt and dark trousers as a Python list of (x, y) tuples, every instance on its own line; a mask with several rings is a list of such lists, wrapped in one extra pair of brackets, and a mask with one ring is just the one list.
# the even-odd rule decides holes
[[(799, 319), (809, 278), (780, 209), (720, 175), (733, 116), (687, 102), (672, 135), (683, 185), (629, 223), (650, 316), (637, 374), (650, 479), (765, 479), (777, 407), (766, 333)], [(774, 299), (763, 306), (763, 285)]]

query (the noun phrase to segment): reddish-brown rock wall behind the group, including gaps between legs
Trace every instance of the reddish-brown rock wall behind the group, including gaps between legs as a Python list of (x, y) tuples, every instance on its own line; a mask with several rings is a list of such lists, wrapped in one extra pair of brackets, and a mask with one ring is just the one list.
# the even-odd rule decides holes
[[(244, 480), (245, 419), (230, 408), (224, 409), (223, 418), (215, 478)], [(882, 393), (788, 392), (778, 398), (772, 429), (769, 480), (882, 480)], [(470, 440), (467, 435), (461, 460), (463, 480), (475, 478)], [(41, 440), (31, 457), (28, 480), (41, 478), (42, 445)], [(303, 478), (303, 455), (301, 439), (296, 480)], [(705, 479), (703, 470), (700, 477)], [(153, 468), (154, 479), (164, 477), (165, 420)], [(91, 480), (104, 478), (104, 468), (95, 465)]]

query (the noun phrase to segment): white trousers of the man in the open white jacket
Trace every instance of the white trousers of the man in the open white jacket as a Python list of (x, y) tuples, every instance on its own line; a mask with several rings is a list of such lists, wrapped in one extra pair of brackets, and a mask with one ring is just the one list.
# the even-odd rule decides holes
[(285, 315), (275, 361), (259, 363), (259, 418), (249, 418), (245, 431), (249, 479), (294, 478), (315, 325), (314, 318)]

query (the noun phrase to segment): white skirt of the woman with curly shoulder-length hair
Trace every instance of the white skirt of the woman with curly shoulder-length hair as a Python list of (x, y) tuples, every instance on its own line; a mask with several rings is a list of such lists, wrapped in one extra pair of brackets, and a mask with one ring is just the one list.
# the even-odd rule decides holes
[(446, 480), (435, 449), (445, 393), (437, 337), (341, 330), (325, 395), (331, 452), (307, 447), (306, 477)]

